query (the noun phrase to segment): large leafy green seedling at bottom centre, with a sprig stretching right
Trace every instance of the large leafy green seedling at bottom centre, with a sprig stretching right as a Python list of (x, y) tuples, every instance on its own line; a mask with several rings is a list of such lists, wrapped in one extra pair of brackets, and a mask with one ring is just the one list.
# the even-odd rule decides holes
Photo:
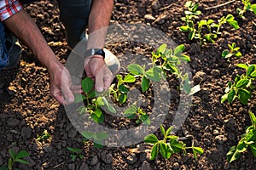
[(200, 147), (195, 147), (192, 144), (191, 147), (186, 147), (182, 141), (179, 141), (179, 137), (170, 134), (172, 131), (172, 127), (169, 127), (167, 130), (161, 125), (160, 131), (164, 137), (164, 139), (158, 139), (154, 134), (148, 134), (144, 138), (144, 142), (148, 144), (153, 144), (151, 150), (150, 160), (154, 160), (160, 153), (165, 159), (169, 159), (172, 154), (179, 153), (183, 151), (183, 154), (187, 154), (187, 150), (192, 150), (195, 156), (195, 160), (197, 161), (197, 154), (203, 154), (203, 150)]

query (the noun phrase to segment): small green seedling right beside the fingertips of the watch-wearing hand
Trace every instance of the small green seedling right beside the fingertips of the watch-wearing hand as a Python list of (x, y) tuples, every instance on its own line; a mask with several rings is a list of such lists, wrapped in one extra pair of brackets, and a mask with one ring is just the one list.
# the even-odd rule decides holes
[[(118, 83), (112, 84), (109, 88), (109, 95), (112, 94), (113, 98), (116, 99), (120, 104), (124, 104), (127, 100), (128, 88), (125, 86), (125, 83), (135, 82), (136, 78), (131, 74), (126, 75), (124, 78), (122, 75), (116, 76), (118, 79)], [(108, 96), (109, 96), (108, 95)]]

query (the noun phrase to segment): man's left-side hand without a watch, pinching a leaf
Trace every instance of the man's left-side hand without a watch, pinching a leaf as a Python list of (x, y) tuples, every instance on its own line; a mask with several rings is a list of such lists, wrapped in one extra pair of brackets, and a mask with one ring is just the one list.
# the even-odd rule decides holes
[(73, 85), (69, 71), (61, 63), (55, 63), (49, 68), (50, 94), (62, 105), (73, 103), (73, 94), (81, 94), (80, 85)]

